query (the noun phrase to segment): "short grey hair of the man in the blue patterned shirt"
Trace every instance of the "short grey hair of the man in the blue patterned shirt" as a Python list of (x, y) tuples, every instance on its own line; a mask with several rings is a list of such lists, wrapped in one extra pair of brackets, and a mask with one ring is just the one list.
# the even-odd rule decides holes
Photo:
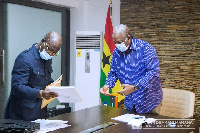
[(120, 24), (114, 28), (113, 35), (114, 34), (122, 34), (124, 38), (126, 38), (128, 35), (130, 35), (130, 29), (128, 28), (128, 26)]

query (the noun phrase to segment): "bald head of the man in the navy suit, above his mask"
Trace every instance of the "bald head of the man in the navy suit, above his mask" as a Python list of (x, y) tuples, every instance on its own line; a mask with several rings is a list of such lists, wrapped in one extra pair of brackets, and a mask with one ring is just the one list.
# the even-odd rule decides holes
[(55, 31), (47, 33), (44, 40), (46, 41), (49, 49), (54, 53), (57, 53), (62, 46), (62, 37)]

